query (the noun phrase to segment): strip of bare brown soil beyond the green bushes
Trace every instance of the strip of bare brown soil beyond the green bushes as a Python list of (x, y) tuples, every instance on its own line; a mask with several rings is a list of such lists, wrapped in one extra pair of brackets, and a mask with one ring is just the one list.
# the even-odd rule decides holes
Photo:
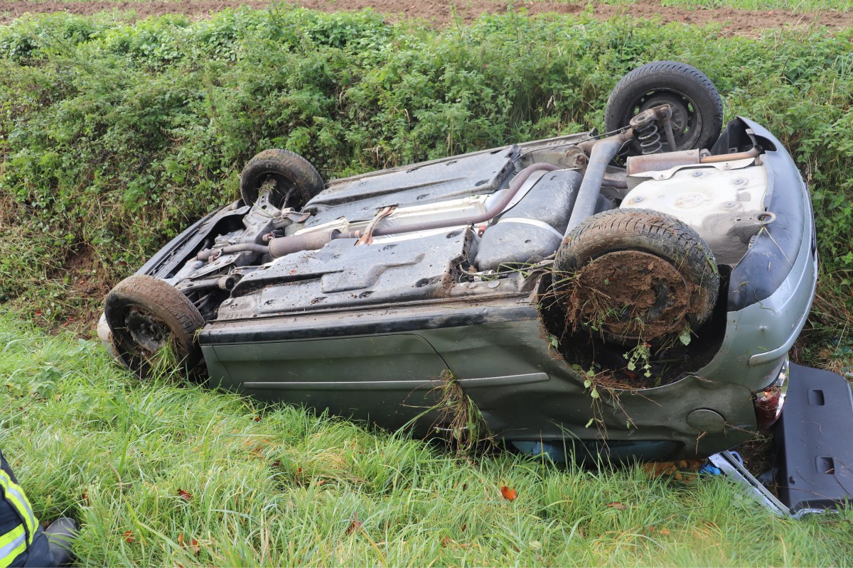
[[(235, 2), (231, 0), (190, 0), (189, 2), (0, 2), (0, 23), (14, 20), (22, 14), (69, 12), (72, 14), (95, 14), (101, 11), (132, 11), (136, 19), (144, 19), (160, 14), (185, 14), (189, 17), (205, 17), (226, 8), (249, 6), (264, 8), (271, 2), (249, 0)], [(390, 20), (405, 18), (423, 19), (434, 26), (446, 26), (454, 14), (465, 22), (470, 22), (480, 14), (497, 14), (508, 9), (526, 9), (529, 14), (577, 14), (584, 9), (583, 4), (565, 2), (507, 2), (505, 0), (293, 0), (293, 5), (323, 12), (337, 12), (374, 8), (388, 14)], [(727, 35), (757, 35), (765, 29), (783, 26), (806, 26), (817, 24), (830, 28), (853, 26), (853, 13), (822, 12), (809, 14), (785, 10), (750, 11), (731, 8), (719, 9), (683, 9), (664, 8), (656, 0), (638, 0), (633, 4), (621, 6), (595, 5), (595, 17), (609, 19), (613, 16), (628, 14), (636, 18), (659, 19), (664, 23), (682, 22), (684, 24), (706, 24), (717, 22)]]

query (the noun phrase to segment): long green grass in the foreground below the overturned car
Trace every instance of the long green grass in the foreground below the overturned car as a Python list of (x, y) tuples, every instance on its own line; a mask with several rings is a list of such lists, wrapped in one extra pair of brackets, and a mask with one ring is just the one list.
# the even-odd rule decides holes
[(39, 519), (79, 519), (79, 565), (844, 565), (853, 536), (853, 512), (777, 519), (726, 479), (457, 457), (137, 382), (8, 314), (0, 388), (0, 447)]

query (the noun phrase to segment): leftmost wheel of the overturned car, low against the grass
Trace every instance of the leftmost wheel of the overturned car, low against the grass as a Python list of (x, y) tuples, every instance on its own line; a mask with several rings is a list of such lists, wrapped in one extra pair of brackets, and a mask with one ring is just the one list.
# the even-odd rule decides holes
[[(171, 345), (174, 363), (199, 373), (201, 350), (195, 332), (205, 320), (189, 298), (171, 284), (151, 276), (134, 275), (116, 284), (107, 295), (104, 315), (119, 357), (144, 379), (161, 350)], [(167, 362), (168, 364), (168, 362)]]

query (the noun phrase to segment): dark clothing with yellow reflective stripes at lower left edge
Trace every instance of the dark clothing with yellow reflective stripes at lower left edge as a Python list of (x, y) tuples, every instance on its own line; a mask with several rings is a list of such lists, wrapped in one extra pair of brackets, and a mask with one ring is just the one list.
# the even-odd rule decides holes
[(7, 568), (32, 546), (37, 530), (26, 493), (0, 452), (0, 568)]

